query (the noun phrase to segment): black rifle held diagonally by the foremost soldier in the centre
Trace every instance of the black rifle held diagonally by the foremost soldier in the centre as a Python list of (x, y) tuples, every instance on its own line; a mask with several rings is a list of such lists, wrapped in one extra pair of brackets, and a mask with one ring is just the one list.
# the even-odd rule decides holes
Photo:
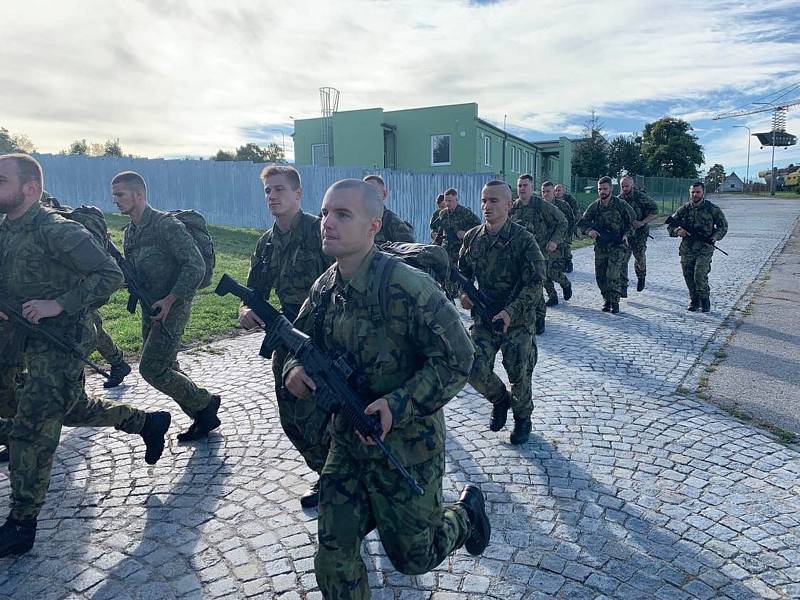
[(347, 383), (353, 369), (344, 357), (335, 360), (329, 358), (314, 345), (309, 336), (295, 329), (286, 317), (265, 302), (257, 292), (241, 285), (227, 274), (219, 280), (214, 293), (219, 296), (232, 294), (249, 306), (264, 321), (264, 331), (267, 333), (261, 346), (261, 356), (265, 353), (271, 354), (272, 349), (277, 346), (284, 346), (292, 352), (317, 385), (314, 391), (317, 404), (329, 413), (343, 414), (364, 439), (375, 442), (416, 494), (421, 496), (424, 493), (419, 483), (381, 441), (383, 428), (380, 418), (377, 415), (364, 414), (368, 402)]

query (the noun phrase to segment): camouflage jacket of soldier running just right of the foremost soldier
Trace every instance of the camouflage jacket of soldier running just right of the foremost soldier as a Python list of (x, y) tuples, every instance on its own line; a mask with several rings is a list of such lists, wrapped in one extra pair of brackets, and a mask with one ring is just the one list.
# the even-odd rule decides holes
[[(478, 282), (497, 312), (508, 312), (511, 327), (533, 323), (544, 279), (544, 257), (522, 225), (508, 219), (496, 234), (485, 224), (470, 229), (461, 246), (458, 270)], [(475, 320), (476, 315), (472, 316)]]

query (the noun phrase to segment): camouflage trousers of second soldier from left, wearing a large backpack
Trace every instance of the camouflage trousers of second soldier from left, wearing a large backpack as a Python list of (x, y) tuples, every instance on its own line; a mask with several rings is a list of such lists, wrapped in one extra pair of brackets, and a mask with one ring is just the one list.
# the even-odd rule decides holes
[[(198, 387), (178, 364), (178, 349), (186, 324), (189, 322), (191, 302), (178, 300), (172, 305), (164, 327), (153, 323), (142, 314), (142, 358), (139, 373), (142, 378), (162, 394), (166, 394), (191, 418), (211, 402), (208, 390)], [(166, 329), (166, 331), (164, 331)]]

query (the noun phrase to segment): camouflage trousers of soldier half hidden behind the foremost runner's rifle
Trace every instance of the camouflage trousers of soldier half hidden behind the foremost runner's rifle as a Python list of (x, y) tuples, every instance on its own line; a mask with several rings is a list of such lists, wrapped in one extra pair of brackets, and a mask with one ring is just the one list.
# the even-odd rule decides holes
[(301, 400), (283, 387), (286, 354), (282, 347), (272, 353), (272, 375), (275, 378), (275, 397), (278, 401), (281, 427), (306, 461), (308, 468), (321, 473), (331, 444), (328, 433), (329, 416), (317, 407), (313, 396)]

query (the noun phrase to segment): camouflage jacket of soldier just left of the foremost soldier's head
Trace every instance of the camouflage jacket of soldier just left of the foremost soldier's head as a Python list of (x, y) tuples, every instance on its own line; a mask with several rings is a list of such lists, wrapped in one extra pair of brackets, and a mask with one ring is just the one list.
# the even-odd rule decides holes
[(269, 300), (272, 290), (280, 300), (284, 314), (294, 320), (316, 281), (333, 259), (322, 253), (319, 217), (304, 213), (295, 215), (289, 231), (277, 225), (258, 240), (250, 257), (247, 287)]

